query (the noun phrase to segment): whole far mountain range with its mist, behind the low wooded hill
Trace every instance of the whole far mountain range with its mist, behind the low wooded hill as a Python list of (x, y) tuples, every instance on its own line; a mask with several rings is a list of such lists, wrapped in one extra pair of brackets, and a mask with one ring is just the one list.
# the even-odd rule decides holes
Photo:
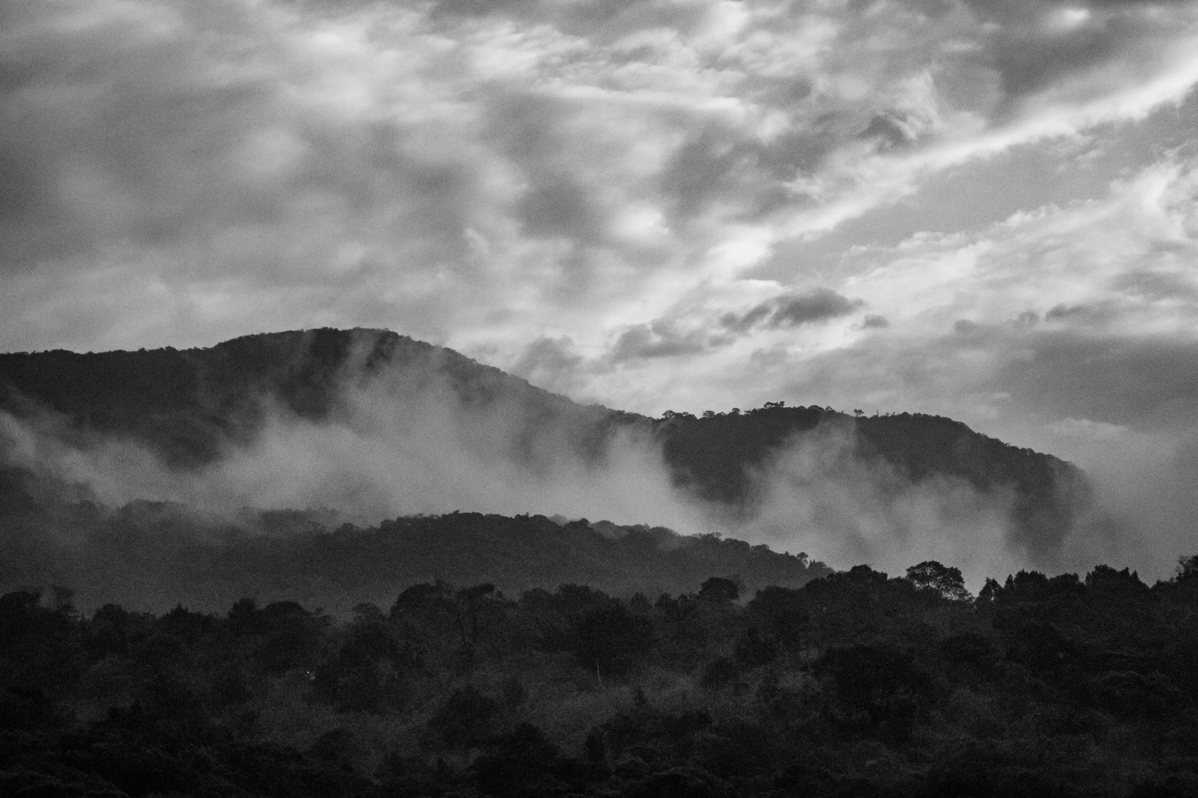
[[(180, 518), (156, 522), (179, 546), (196, 530), (207, 546), (259, 534), (246, 518), (261, 511), (319, 519), (278, 537), (460, 511), (721, 535), (841, 568), (940, 558), (978, 589), (1021, 567), (1094, 565), (1109, 531), (1078, 469), (950, 419), (781, 402), (651, 419), (381, 330), (12, 353), (0, 385), (19, 486), (6, 512), (20, 505), (38, 530), (26, 548), (91, 546), (145, 502)], [(50, 514), (72, 520), (40, 520)], [(6, 560), (7, 584), (44, 581), (22, 577), (29, 558)]]

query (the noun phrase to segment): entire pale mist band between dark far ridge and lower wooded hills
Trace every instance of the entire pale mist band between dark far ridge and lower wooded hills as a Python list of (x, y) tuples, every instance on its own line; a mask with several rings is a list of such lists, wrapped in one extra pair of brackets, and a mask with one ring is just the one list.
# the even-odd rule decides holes
[(193, 468), (171, 468), (131, 439), (68, 435), (49, 416), (0, 415), (0, 433), (10, 464), (85, 485), (109, 506), (171, 501), (224, 519), (243, 507), (326, 508), (358, 525), (453, 511), (559, 514), (718, 532), (840, 568), (864, 562), (901, 574), (939, 560), (974, 590), (1019, 568), (1090, 566), (1095, 547), (1084, 538), (1109, 532), (1109, 524), (1083, 524), (1047, 548), (1029, 547), (1015, 532), (1010, 487), (913, 481), (861, 456), (851, 424), (787, 441), (751, 474), (756, 498), (730, 507), (676, 486), (647, 424), (580, 433), (586, 408), (547, 412), (503, 392), (480, 401), (430, 371), (346, 380), (320, 420), (271, 396), (261, 402), (252, 443), (229, 443)]

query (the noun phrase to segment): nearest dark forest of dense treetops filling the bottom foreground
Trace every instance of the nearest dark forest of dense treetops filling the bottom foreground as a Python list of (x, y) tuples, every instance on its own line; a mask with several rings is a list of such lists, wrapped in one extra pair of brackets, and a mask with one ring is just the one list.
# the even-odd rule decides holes
[(974, 598), (936, 562), (742, 596), (422, 583), (334, 621), (0, 598), (0, 794), (1198, 794), (1198, 561)]

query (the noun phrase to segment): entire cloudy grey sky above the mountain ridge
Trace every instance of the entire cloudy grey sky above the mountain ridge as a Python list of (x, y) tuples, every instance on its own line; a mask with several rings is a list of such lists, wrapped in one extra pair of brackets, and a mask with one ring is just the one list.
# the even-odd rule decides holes
[(1192, 471), (1196, 83), (1194, 2), (5, 0), (0, 349), (385, 327)]

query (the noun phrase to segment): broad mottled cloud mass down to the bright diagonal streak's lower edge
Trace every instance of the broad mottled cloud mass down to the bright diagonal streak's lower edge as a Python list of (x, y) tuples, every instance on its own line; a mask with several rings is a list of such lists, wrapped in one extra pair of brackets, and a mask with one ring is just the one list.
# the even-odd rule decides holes
[[(513, 358), (541, 335), (593, 348), (930, 175), (1176, 102), (1191, 18), (1186, 4), (25, 5), (2, 33), (0, 341), (329, 323)], [(775, 293), (807, 282), (791, 278)]]

